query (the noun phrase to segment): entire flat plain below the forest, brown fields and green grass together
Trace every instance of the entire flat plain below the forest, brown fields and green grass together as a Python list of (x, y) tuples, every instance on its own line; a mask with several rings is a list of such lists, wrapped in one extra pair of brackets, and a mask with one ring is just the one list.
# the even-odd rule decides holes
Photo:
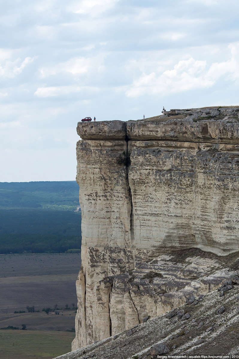
[[(1, 358), (48, 359), (71, 350), (80, 265), (79, 253), (0, 255), (0, 328), (19, 327), (0, 330)], [(55, 304), (58, 315), (42, 312)], [(39, 312), (28, 313), (27, 306)], [(20, 330), (22, 324), (27, 330)]]

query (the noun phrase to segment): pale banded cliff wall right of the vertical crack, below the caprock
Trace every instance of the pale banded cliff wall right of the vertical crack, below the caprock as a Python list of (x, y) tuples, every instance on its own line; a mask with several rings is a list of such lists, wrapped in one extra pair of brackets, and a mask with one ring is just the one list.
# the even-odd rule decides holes
[(238, 250), (238, 145), (129, 141), (128, 152), (136, 248)]

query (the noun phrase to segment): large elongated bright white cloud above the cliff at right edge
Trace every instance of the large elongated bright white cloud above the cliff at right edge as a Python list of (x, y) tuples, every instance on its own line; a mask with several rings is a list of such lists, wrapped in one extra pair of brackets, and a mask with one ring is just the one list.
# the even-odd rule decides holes
[(231, 47), (232, 57), (228, 61), (214, 62), (206, 60), (180, 60), (172, 70), (162, 73), (143, 73), (126, 91), (128, 97), (139, 97), (144, 94), (172, 94), (200, 88), (212, 87), (217, 80), (235, 81), (239, 78), (239, 61), (236, 59), (237, 47)]

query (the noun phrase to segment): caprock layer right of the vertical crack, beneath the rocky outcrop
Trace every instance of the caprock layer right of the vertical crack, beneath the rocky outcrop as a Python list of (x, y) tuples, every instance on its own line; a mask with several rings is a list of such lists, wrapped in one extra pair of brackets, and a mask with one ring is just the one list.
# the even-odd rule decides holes
[(239, 107), (171, 110), (157, 120), (128, 121), (132, 140), (239, 143)]

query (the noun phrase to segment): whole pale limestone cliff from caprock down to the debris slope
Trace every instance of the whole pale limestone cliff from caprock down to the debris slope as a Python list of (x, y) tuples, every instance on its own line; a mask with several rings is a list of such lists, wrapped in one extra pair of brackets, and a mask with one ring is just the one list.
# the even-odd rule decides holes
[(172, 110), (128, 121), (127, 137), (126, 122), (78, 124), (82, 267), (72, 349), (190, 296), (196, 308), (231, 280), (218, 255), (239, 250), (237, 111)]

